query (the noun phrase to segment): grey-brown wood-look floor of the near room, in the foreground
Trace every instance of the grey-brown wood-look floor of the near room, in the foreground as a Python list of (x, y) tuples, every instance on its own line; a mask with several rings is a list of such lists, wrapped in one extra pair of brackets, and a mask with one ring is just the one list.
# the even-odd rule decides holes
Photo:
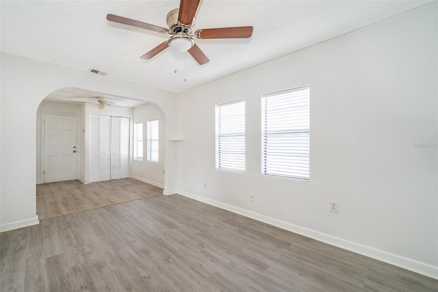
[(437, 291), (438, 281), (181, 195), (0, 234), (1, 291)]

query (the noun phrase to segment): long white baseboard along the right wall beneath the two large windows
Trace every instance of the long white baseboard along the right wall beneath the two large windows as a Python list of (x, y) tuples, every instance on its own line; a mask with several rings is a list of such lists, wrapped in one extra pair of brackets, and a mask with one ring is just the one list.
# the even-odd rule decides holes
[(213, 199), (208, 199), (206, 197), (202, 197), (199, 195), (194, 195), (192, 193), (188, 193), (185, 191), (178, 190), (178, 194), (183, 195), (185, 197), (190, 197), (191, 199), (196, 199), (196, 201), (203, 202), (205, 204), (209, 204), (211, 206), (215, 206), (224, 210), (228, 210), (230, 212), (234, 212), (239, 215), (243, 215), (245, 217), (255, 219), (257, 221), (261, 221), (263, 223), (268, 223), (272, 226), (276, 226), (278, 228), (282, 228), (284, 230), (288, 230), (290, 232), (294, 232), (296, 234), (300, 234), (302, 236), (307, 236), (311, 239), (315, 239), (317, 241), (322, 241), (324, 243), (328, 243), (329, 245), (334, 245), (336, 247), (340, 247), (344, 250), (349, 250), (350, 252), (355, 252), (357, 254), (362, 254), (363, 256), (368, 256), (370, 258), (374, 258), (376, 260), (381, 260), (385, 263), (389, 263), (391, 265), (396, 265), (398, 267), (402, 267), (404, 269), (408, 269), (410, 271), (414, 271), (415, 273), (421, 273), (424, 276), (428, 276), (430, 278), (438, 279), (438, 267), (433, 265), (429, 265), (427, 263), (422, 263), (418, 260), (413, 260), (411, 258), (405, 258), (404, 256), (398, 256), (396, 254), (391, 254), (389, 252), (384, 252), (382, 250), (377, 250), (374, 247), (368, 247), (365, 245), (361, 245), (359, 243), (354, 243), (351, 241), (347, 241), (345, 239), (340, 239), (335, 236), (331, 236), (329, 234), (324, 234), (322, 232), (318, 232), (315, 230), (311, 230), (308, 228), (303, 228), (301, 226), (296, 226), (292, 223), (288, 223), (285, 221), (281, 221), (278, 219), (274, 219), (272, 217), (268, 217), (265, 215), (261, 215), (255, 212), (251, 212), (242, 208), (237, 208), (235, 206), (231, 206), (229, 204), (224, 204), (222, 202), (215, 201)]

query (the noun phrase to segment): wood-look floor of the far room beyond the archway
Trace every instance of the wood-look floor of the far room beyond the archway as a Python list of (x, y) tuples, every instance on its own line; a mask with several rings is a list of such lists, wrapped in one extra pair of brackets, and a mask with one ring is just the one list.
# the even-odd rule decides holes
[(36, 214), (41, 220), (162, 193), (162, 188), (133, 178), (92, 184), (83, 184), (79, 180), (37, 184)]

